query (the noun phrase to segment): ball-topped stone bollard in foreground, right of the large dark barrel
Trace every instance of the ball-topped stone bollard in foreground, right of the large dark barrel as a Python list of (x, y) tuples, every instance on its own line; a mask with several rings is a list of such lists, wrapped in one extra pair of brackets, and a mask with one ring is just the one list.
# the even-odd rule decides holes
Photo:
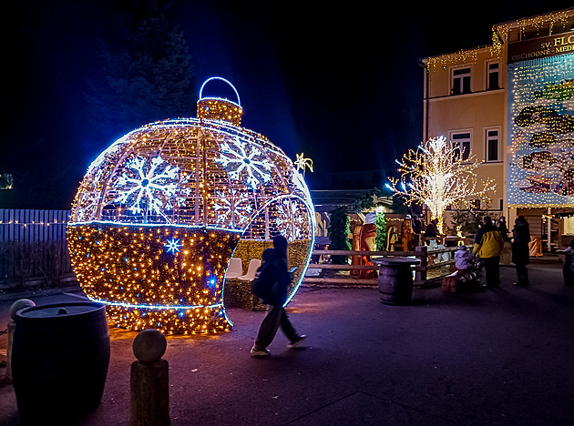
[(159, 330), (142, 330), (134, 339), (131, 364), (131, 426), (169, 425), (168, 361), (161, 357), (168, 342)]

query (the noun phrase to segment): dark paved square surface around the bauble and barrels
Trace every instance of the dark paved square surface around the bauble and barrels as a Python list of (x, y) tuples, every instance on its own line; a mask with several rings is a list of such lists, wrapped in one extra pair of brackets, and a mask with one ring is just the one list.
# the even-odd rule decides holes
[[(416, 289), (404, 307), (376, 289), (302, 289), (289, 310), (308, 348), (287, 349), (280, 332), (266, 359), (249, 356), (263, 313), (229, 309), (229, 333), (168, 339), (171, 424), (574, 424), (574, 288), (559, 268), (531, 264), (518, 289), (503, 267), (500, 289)], [(81, 425), (128, 424), (134, 336), (112, 330), (104, 397)], [(5, 380), (0, 424), (19, 424)]]

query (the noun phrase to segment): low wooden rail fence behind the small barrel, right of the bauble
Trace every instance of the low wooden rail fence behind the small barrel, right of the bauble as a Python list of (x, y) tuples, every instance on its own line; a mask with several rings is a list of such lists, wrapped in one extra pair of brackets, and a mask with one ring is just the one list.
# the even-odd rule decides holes
[[(472, 246), (466, 246), (467, 249)], [(415, 251), (353, 251), (353, 250), (313, 250), (313, 259), (321, 259), (333, 255), (342, 256), (397, 256), (412, 257), (421, 261), (420, 265), (414, 267), (415, 277), (414, 285), (424, 287), (435, 284), (446, 275), (451, 273), (452, 266), (455, 264), (454, 252), (458, 247), (429, 250), (427, 246), (418, 246)], [(446, 254), (446, 256), (444, 256)], [(448, 260), (441, 258), (449, 258)], [(322, 269), (326, 271), (353, 271), (353, 270), (378, 270), (376, 265), (334, 265), (319, 261), (312, 261), (309, 269)], [(335, 277), (313, 277), (305, 276), (303, 284), (333, 284), (333, 285), (366, 285), (376, 286), (377, 279), (359, 279), (350, 275)]]

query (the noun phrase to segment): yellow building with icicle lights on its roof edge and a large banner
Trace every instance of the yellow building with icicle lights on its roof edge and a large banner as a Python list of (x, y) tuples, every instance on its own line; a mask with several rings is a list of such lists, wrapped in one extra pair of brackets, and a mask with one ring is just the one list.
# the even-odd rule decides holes
[(574, 238), (574, 8), (494, 25), (491, 45), (422, 65), (424, 139), (446, 137), (497, 183), (473, 207), (509, 228), (526, 216), (545, 249), (563, 249)]

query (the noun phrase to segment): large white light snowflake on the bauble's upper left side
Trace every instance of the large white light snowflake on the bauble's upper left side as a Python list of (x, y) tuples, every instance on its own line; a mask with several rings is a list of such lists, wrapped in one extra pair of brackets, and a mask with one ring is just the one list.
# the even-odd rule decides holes
[(161, 209), (173, 208), (171, 198), (178, 188), (179, 167), (170, 166), (158, 156), (151, 158), (150, 162), (136, 157), (128, 162), (126, 168), (128, 171), (114, 184), (114, 188), (118, 188), (118, 197), (113, 201), (127, 204), (135, 214), (145, 209), (165, 218)]

